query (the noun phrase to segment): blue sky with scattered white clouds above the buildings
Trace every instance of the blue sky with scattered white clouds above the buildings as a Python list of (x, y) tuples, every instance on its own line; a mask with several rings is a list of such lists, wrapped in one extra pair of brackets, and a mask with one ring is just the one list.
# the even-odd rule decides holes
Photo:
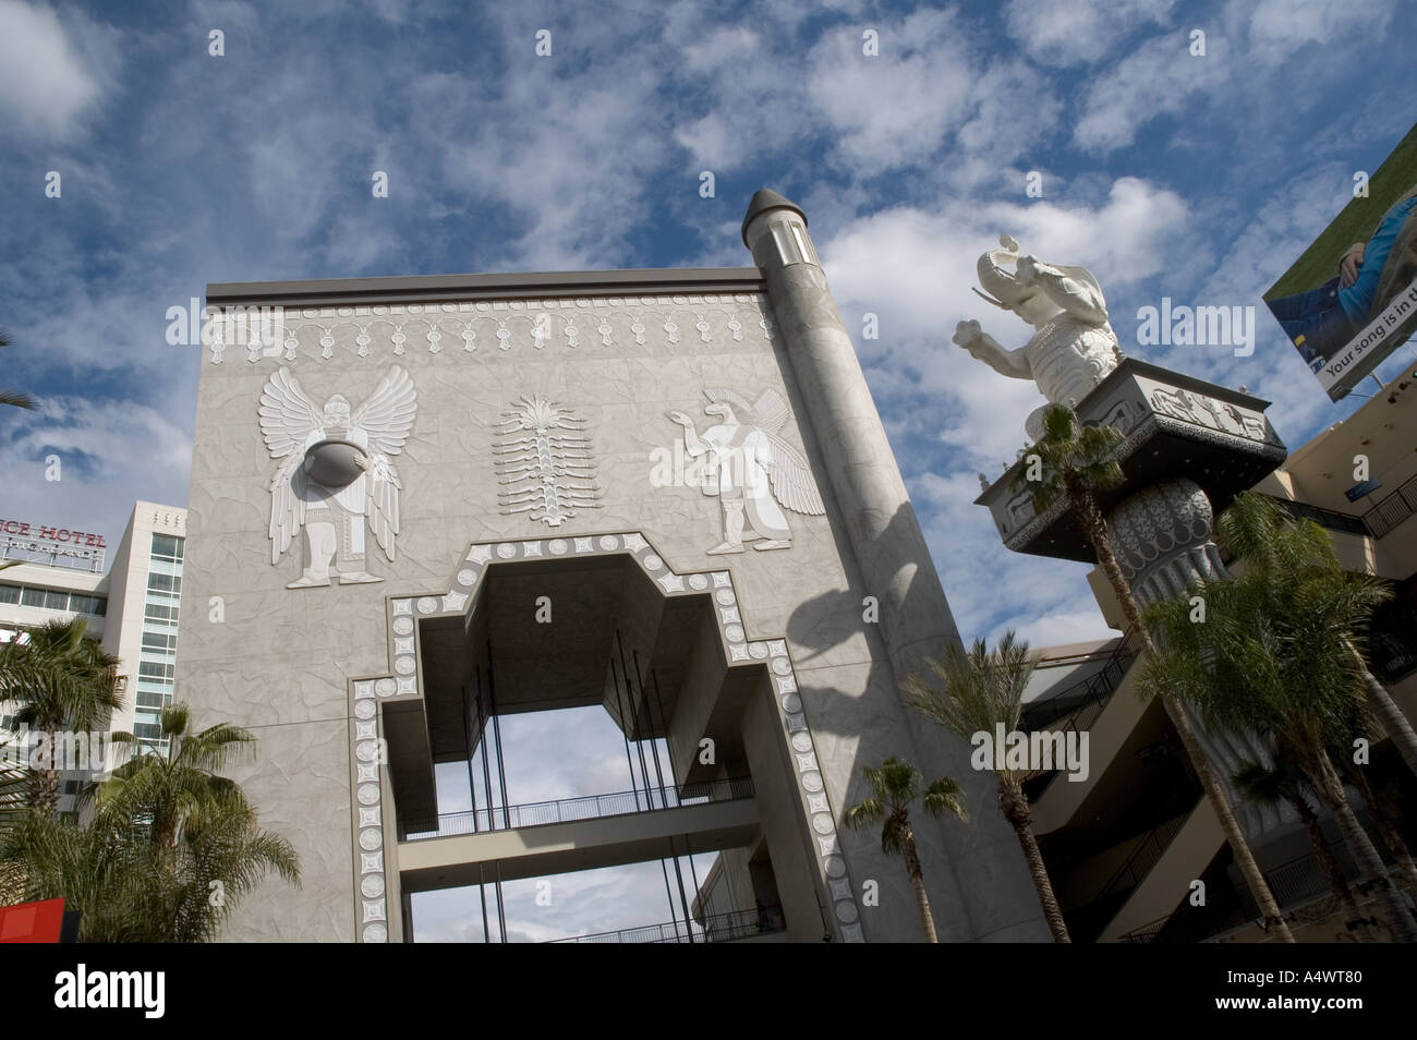
[[(198, 353), (166, 312), (207, 282), (738, 266), (771, 186), (806, 210), (961, 631), (1107, 635), (1085, 568), (1006, 553), (972, 504), (1040, 402), (949, 343), (968, 317), (1026, 340), (975, 258), (1006, 231), (1085, 264), (1127, 353), (1247, 384), (1302, 443), (1362, 398), (1331, 404), (1260, 296), (1411, 126), (1400, 7), (0, 0), (0, 385), (44, 402), (0, 415), (0, 513), (116, 538), (133, 499), (186, 503)], [(1139, 346), (1162, 296), (1258, 307), (1254, 354)]]

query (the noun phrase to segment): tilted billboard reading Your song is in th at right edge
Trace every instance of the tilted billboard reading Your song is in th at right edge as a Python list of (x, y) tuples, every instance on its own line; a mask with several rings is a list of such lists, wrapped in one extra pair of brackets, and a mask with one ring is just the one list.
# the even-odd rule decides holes
[(1417, 330), (1417, 126), (1264, 302), (1333, 401)]

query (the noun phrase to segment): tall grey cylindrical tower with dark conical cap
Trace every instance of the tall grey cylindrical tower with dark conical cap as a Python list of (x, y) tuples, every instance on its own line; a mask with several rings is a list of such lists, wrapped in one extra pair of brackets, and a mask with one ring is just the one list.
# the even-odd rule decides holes
[[(748, 205), (743, 241), (764, 272), (768, 302), (812, 414), (860, 567), (862, 594), (880, 604), (880, 636), (898, 691), (907, 676), (931, 676), (925, 657), (938, 659), (958, 642), (949, 604), (856, 349), (826, 286), (806, 215), (777, 191), (762, 188)], [(904, 730), (915, 744), (894, 754), (911, 758), (927, 781), (939, 774), (954, 776), (969, 795), (969, 826), (941, 826), (924, 815), (913, 820), (927, 854), (927, 881), (942, 890), (947, 907), (964, 907), (968, 915), (968, 921), (937, 920), (941, 941), (1046, 939), (1037, 893), (1016, 837), (998, 810), (993, 775), (972, 769), (968, 745), (905, 710), (898, 697), (888, 711), (904, 716)], [(856, 772), (860, 765), (877, 764), (857, 762)], [(928, 857), (931, 847), (942, 847), (952, 878), (928, 877), (931, 870), (939, 873)], [(939, 910), (937, 917), (944, 917)]]

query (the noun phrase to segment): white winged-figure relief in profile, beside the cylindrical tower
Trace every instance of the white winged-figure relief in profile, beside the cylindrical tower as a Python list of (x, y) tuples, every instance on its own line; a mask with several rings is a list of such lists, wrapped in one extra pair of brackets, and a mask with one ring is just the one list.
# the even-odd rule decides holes
[(717, 494), (723, 510), (723, 543), (708, 555), (743, 553), (743, 543), (757, 550), (791, 548), (792, 529), (779, 506), (805, 516), (822, 516), (826, 507), (802, 452), (778, 431), (788, 421), (788, 402), (765, 390), (757, 404), (731, 390), (704, 390), (713, 404), (704, 411), (723, 419), (701, 435), (683, 412), (669, 418), (684, 428), (690, 458), (707, 455), (704, 494)]

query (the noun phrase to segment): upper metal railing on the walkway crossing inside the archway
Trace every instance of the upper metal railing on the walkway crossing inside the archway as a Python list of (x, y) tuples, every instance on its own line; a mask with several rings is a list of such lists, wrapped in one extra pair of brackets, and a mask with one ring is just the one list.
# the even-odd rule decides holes
[(473, 835), (483, 830), (541, 827), (548, 823), (572, 823), (575, 820), (592, 820), (604, 816), (626, 816), (636, 812), (679, 809), (689, 805), (706, 805), (708, 802), (733, 802), (740, 798), (752, 798), (752, 779), (748, 776), (686, 784), (682, 788), (640, 788), (639, 791), (618, 791), (609, 795), (563, 798), (555, 802), (499, 805), (487, 809), (441, 813), (436, 818), (401, 819), (398, 836), (401, 842), (418, 842), (427, 837)]

